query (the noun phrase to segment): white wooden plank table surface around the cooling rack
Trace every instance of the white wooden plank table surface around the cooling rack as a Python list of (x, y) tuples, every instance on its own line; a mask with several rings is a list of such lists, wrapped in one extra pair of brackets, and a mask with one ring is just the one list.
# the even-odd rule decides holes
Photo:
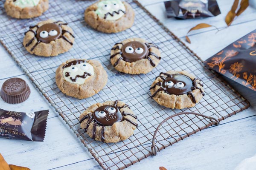
[[(218, 0), (222, 14), (203, 20), (175, 20), (165, 17), (163, 0), (140, 2), (179, 38), (185, 41), (186, 32), (198, 23), (209, 23), (215, 28), (193, 31), (187, 44), (203, 60), (225, 46), (256, 29), (256, 9), (249, 7), (233, 24), (226, 28), (224, 22), (233, 0)], [(13, 111), (39, 111), (49, 109), (44, 142), (26, 142), (0, 139), (0, 153), (9, 164), (30, 167), (32, 170), (97, 170), (101, 169), (83, 144), (79, 142), (47, 100), (15, 64), (9, 54), (0, 47), (0, 86), (10, 77), (25, 79), (31, 88), (26, 102), (10, 105), (0, 99), (0, 108)], [(251, 103), (251, 107), (210, 127), (182, 142), (128, 167), (130, 170), (233, 170), (243, 159), (256, 154), (256, 92), (236, 83), (233, 86)]]

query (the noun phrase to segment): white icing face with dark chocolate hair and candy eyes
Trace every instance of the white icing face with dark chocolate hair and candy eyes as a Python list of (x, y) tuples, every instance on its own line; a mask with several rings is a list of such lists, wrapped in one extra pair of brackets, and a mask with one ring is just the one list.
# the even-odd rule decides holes
[(93, 75), (93, 66), (82, 60), (69, 62), (63, 67), (63, 77), (70, 83), (84, 84), (84, 81)]

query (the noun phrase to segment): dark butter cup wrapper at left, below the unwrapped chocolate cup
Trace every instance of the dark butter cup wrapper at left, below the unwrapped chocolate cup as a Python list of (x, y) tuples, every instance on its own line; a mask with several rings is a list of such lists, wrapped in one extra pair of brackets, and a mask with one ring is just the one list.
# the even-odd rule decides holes
[(49, 110), (16, 112), (0, 109), (0, 137), (43, 142)]

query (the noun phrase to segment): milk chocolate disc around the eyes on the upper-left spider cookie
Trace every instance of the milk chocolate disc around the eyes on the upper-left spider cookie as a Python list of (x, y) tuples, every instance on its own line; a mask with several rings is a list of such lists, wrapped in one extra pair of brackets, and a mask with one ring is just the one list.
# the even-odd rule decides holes
[[(54, 36), (51, 36), (50, 34), (43, 38), (40, 36), (40, 33), (44, 33), (46, 31), (48, 34), (50, 31), (57, 31), (58, 33)], [(61, 27), (58, 26), (55, 23), (49, 23), (49, 24), (44, 24), (43, 26), (39, 27), (37, 30), (36, 38), (38, 41), (44, 42), (44, 43), (50, 43), (51, 41), (54, 41), (58, 39), (61, 36)]]

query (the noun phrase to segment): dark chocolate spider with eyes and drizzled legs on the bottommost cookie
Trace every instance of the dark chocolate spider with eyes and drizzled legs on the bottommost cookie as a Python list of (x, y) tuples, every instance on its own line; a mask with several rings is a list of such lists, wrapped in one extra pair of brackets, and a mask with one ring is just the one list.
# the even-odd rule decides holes
[(131, 113), (125, 113), (125, 111), (120, 111), (122, 108), (129, 108), (128, 105), (117, 106), (119, 100), (114, 101), (113, 105), (103, 105), (97, 108), (93, 113), (88, 113), (83, 118), (81, 118), (80, 123), (84, 122), (86, 119), (86, 126), (84, 132), (87, 132), (90, 123), (93, 123), (93, 135), (92, 139), (96, 138), (96, 126), (101, 127), (101, 141), (105, 142), (105, 126), (112, 126), (116, 122), (122, 122), (124, 120), (130, 122), (132, 125), (138, 127), (138, 124), (128, 119), (125, 116), (132, 116), (137, 119), (137, 116)]

